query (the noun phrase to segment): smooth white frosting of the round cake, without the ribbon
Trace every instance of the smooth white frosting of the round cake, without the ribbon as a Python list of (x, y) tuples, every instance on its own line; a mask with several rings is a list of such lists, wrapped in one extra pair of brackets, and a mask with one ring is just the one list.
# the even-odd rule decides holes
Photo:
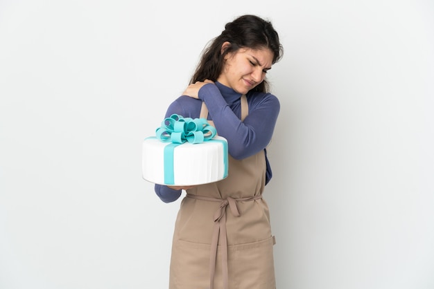
[[(213, 140), (225, 138), (216, 136)], [(227, 143), (227, 142), (226, 142)], [(173, 151), (174, 183), (164, 182), (164, 148), (171, 142), (157, 138), (146, 138), (143, 142), (143, 178), (160, 185), (200, 185), (213, 183), (225, 178), (227, 172), (227, 151), (223, 143), (205, 141), (199, 144), (185, 142)], [(226, 156), (225, 156), (226, 154)]]

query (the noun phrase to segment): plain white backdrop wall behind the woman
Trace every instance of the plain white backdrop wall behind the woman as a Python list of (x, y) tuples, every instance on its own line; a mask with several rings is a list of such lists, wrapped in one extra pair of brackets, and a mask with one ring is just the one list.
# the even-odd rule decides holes
[(141, 140), (245, 13), (285, 48), (277, 288), (434, 288), (433, 1), (0, 0), (1, 289), (167, 288)]

